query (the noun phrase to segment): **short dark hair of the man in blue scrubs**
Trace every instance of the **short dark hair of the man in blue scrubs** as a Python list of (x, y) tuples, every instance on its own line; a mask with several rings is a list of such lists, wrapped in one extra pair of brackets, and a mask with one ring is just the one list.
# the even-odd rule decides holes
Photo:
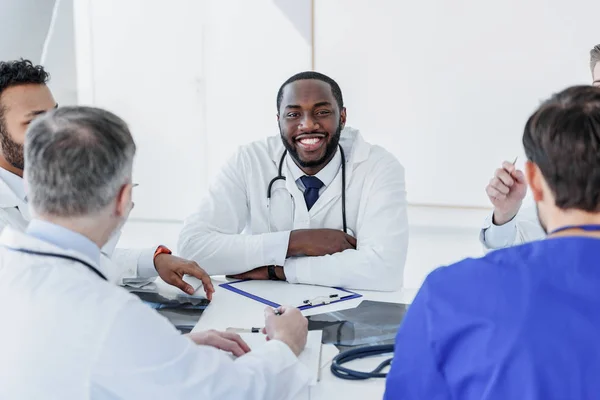
[(600, 88), (574, 86), (545, 101), (525, 125), (523, 147), (557, 207), (600, 211)]

